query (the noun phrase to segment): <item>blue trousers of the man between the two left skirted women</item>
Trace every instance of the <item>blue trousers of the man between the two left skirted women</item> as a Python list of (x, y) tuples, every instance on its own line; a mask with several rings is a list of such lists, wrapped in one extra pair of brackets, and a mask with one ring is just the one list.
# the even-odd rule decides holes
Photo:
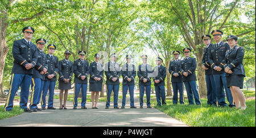
[(87, 83), (75, 83), (74, 87), (74, 99), (73, 104), (74, 107), (77, 107), (77, 97), (79, 96), (80, 90), (82, 93), (82, 101), (81, 106), (84, 107), (86, 103), (86, 93), (87, 93)]

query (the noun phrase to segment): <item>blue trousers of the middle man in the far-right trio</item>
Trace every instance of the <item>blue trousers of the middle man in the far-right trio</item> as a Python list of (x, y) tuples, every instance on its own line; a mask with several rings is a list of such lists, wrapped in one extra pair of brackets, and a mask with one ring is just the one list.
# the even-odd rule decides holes
[(231, 94), (230, 89), (228, 88), (226, 84), (226, 76), (225, 73), (222, 74), (213, 74), (214, 83), (216, 87), (216, 95), (217, 95), (217, 102), (220, 106), (226, 106), (225, 102), (225, 92), (226, 91), (226, 98), (228, 99), (229, 106), (234, 106), (233, 97)]

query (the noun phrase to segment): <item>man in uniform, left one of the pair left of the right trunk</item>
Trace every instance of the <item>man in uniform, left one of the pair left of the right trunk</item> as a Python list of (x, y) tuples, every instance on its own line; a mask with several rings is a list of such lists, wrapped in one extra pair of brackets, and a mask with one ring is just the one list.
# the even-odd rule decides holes
[(180, 52), (172, 52), (174, 55), (174, 60), (170, 62), (169, 73), (171, 74), (172, 90), (174, 91), (174, 97), (172, 98), (172, 104), (177, 104), (177, 94), (179, 90), (180, 94), (180, 104), (184, 104), (184, 95), (183, 95), (183, 86), (182, 81), (182, 69), (181, 69), (181, 60), (179, 60)]

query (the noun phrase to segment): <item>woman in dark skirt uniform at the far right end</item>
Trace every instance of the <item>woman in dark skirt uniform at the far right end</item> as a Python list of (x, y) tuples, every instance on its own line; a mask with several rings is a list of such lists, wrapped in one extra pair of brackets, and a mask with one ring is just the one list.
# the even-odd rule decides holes
[(226, 39), (228, 40), (230, 51), (226, 53), (224, 58), (224, 68), (227, 85), (232, 92), (236, 108), (240, 108), (241, 105), (241, 110), (245, 110), (245, 95), (243, 95), (243, 92), (240, 90), (243, 88), (243, 78), (245, 77), (245, 68), (243, 67), (245, 50), (243, 47), (237, 46), (237, 39), (237, 36), (234, 35), (229, 35), (228, 39)]

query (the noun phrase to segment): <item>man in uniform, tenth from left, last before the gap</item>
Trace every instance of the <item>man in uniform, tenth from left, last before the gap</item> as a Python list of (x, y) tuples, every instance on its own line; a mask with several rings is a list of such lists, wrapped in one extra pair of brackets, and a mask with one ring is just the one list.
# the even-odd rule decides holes
[(156, 63), (158, 64), (155, 66), (154, 73), (153, 73), (153, 81), (155, 82), (155, 95), (156, 101), (158, 102), (157, 106), (161, 106), (161, 99), (162, 104), (166, 104), (166, 91), (164, 90), (164, 79), (166, 78), (166, 67), (162, 65), (162, 58), (158, 57)]

